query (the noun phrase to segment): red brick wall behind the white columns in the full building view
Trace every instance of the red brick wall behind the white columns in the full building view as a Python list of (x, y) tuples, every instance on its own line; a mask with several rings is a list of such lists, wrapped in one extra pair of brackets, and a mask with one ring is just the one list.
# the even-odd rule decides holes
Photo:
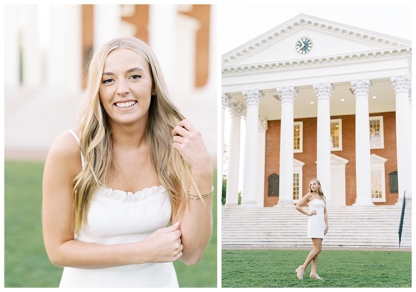
[[(371, 154), (376, 154), (387, 159), (384, 164), (386, 179), (386, 202), (376, 205), (392, 205), (397, 202), (398, 194), (390, 193), (389, 173), (397, 171), (396, 154), (396, 113), (372, 113), (370, 116), (382, 115), (384, 125), (384, 149), (372, 149)], [(342, 151), (332, 151), (334, 155), (348, 159), (345, 165), (345, 203), (352, 205), (356, 199), (355, 178), (355, 115), (331, 116), (331, 119), (342, 119)], [(317, 118), (302, 118), (295, 121), (303, 122), (303, 152), (294, 153), (295, 159), (305, 162), (302, 168), (302, 192), (309, 190), (309, 182), (316, 178), (316, 126)], [(280, 120), (269, 120), (266, 132), (266, 161), (265, 161), (265, 190), (264, 206), (271, 207), (277, 204), (279, 197), (267, 196), (268, 177), (272, 173), (279, 174), (280, 156)], [(318, 178), (319, 179), (319, 178)], [(322, 186), (323, 191), (330, 186)], [(303, 195), (302, 194), (302, 195)], [(306, 206), (306, 205), (305, 205)]]

